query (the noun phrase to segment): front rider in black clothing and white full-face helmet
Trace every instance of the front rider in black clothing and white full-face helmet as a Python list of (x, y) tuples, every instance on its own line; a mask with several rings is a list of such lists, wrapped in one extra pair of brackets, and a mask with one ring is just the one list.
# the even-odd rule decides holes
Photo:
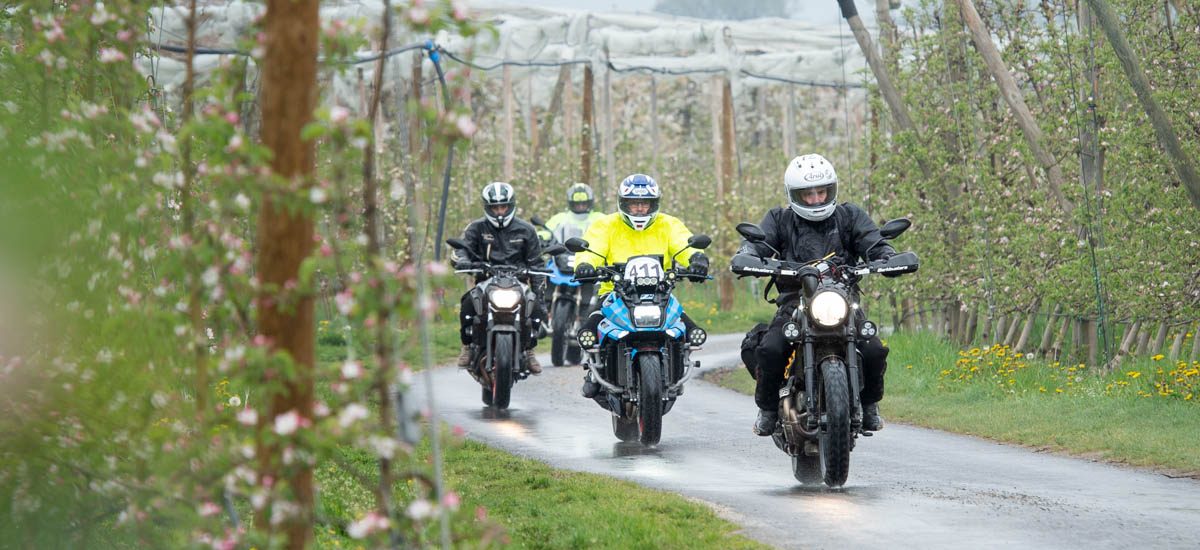
[[(782, 261), (811, 262), (829, 252), (838, 264), (854, 264), (858, 258), (886, 259), (895, 253), (887, 244), (871, 217), (851, 203), (838, 203), (838, 174), (826, 157), (816, 154), (792, 159), (784, 172), (784, 190), (788, 208), (776, 207), (763, 216), (760, 227), (767, 234), (766, 244), (780, 251)], [(739, 252), (770, 257), (774, 252), (763, 245), (743, 241)], [(798, 281), (780, 279), (779, 309), (755, 351), (757, 387), (755, 403), (758, 418), (754, 432), (769, 436), (779, 419), (779, 388), (790, 360), (791, 345), (784, 337), (784, 323), (796, 310), (800, 298)], [(854, 289), (857, 294), (857, 288)], [(858, 315), (863, 315), (858, 310)], [(883, 372), (887, 370), (888, 348), (878, 336), (858, 342), (863, 354), (863, 429), (883, 428), (878, 401), (883, 399)]]

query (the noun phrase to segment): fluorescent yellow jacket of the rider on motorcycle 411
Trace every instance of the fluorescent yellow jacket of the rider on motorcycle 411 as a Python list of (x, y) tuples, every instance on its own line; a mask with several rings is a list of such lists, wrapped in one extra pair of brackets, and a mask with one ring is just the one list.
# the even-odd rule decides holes
[[(620, 219), (620, 213), (608, 214), (592, 222), (588, 231), (583, 233), (583, 240), (588, 241), (588, 249), (606, 256), (602, 257), (590, 252), (575, 255), (575, 264), (590, 263), (592, 265), (612, 265), (629, 261), (632, 256), (662, 255), (662, 267), (671, 268), (671, 256), (688, 247), (688, 238), (691, 232), (678, 217), (659, 214), (654, 222), (646, 229), (635, 231)], [(688, 267), (690, 253), (679, 255), (679, 265)], [(612, 292), (612, 283), (605, 282), (600, 286), (599, 293)]]

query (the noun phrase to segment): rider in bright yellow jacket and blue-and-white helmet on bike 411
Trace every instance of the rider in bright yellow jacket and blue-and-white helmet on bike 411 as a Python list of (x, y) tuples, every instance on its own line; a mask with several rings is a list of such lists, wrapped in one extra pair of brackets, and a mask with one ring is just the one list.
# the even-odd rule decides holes
[[(596, 274), (595, 265), (624, 263), (630, 257), (642, 255), (661, 255), (665, 268), (671, 268), (671, 257), (688, 247), (691, 231), (678, 217), (659, 211), (661, 191), (658, 181), (646, 174), (631, 174), (617, 190), (618, 211), (596, 220), (583, 233), (590, 251), (575, 256), (575, 277), (588, 279)], [(595, 253), (593, 253), (595, 252)], [(694, 275), (708, 275), (708, 257), (696, 251), (677, 258), (679, 265)], [(600, 286), (600, 300), (612, 292), (612, 282)], [(588, 316), (584, 328), (595, 331), (604, 315), (596, 310)], [(690, 333), (695, 323), (683, 315), (684, 324)], [(583, 395), (595, 396), (600, 384), (584, 377)]]

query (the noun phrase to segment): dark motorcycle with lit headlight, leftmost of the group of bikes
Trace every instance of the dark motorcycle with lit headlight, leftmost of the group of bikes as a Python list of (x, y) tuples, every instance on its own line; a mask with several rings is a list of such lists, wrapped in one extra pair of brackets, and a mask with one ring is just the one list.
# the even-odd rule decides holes
[[(528, 275), (548, 276), (516, 265), (492, 264), (475, 256), (461, 239), (446, 239), (446, 244), (467, 255), (473, 265), (455, 273), (484, 274), (487, 279), (478, 285), (480, 292), (473, 294), (475, 311), (486, 315), (484, 346), (470, 345), (470, 367), (467, 372), (482, 387), (484, 405), (504, 409), (509, 407), (512, 384), (529, 377), (526, 364), (523, 334), (532, 334), (533, 295), (529, 285), (521, 281)], [(563, 245), (552, 245), (542, 253), (562, 253)], [(478, 323), (470, 330), (480, 327)], [(473, 339), (474, 340), (474, 339)]]

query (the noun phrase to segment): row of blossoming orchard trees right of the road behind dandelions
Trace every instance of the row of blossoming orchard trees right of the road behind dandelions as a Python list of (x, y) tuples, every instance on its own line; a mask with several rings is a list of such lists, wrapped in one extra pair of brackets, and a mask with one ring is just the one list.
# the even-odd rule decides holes
[(1088, 345), (1074, 357), (1092, 365), (1105, 351), (1186, 358), (1187, 346), (1196, 359), (1195, 184), (1093, 5), (1120, 16), (1150, 96), (1195, 157), (1200, 13), (1187, 2), (918, 2), (880, 41), (916, 124), (874, 141), (866, 167), (883, 211), (917, 219), (906, 238), (923, 275), (899, 289), (964, 342)]

